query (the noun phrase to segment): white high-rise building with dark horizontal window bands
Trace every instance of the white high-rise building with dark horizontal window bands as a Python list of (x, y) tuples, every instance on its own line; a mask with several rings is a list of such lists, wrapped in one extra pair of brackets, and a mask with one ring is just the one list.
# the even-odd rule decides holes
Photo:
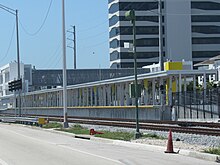
[[(110, 67), (133, 67), (132, 24), (125, 19), (136, 14), (138, 67), (159, 61), (158, 0), (109, 0)], [(194, 64), (220, 54), (219, 0), (162, 0), (164, 60)]]

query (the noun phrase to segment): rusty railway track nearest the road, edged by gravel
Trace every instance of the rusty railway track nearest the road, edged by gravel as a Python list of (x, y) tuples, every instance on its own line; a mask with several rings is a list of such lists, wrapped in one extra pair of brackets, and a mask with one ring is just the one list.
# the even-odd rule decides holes
[[(50, 121), (63, 121), (62, 116), (45, 116), (32, 115), (39, 117), (47, 117)], [(134, 120), (126, 119), (108, 119), (108, 118), (82, 118), (82, 117), (68, 117), (69, 123), (89, 124), (89, 125), (103, 125), (124, 128), (136, 128)], [(146, 120), (139, 122), (140, 129), (169, 131), (177, 133), (220, 136), (220, 123), (206, 123), (206, 122), (183, 122), (183, 121), (154, 121)]]

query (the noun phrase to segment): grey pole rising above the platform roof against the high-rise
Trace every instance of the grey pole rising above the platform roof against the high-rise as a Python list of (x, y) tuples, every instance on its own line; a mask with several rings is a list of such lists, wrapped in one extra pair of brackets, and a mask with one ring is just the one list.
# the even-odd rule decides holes
[(163, 15), (162, 15), (162, 1), (158, 0), (158, 18), (159, 18), (159, 63), (161, 71), (163, 66)]

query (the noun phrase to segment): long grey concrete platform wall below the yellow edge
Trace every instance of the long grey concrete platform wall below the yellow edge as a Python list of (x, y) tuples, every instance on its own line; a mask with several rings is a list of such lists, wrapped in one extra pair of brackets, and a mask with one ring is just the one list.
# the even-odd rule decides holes
[[(1, 111), (2, 114), (10, 113), (15, 114), (14, 110), (9, 109)], [(55, 115), (63, 116), (62, 108), (54, 109), (23, 109), (22, 114), (25, 115)], [(99, 118), (117, 118), (117, 119), (135, 119), (136, 118), (135, 107), (131, 108), (68, 108), (68, 116), (77, 117), (99, 117)], [(160, 107), (153, 108), (139, 108), (140, 120), (170, 120), (170, 111), (161, 111)]]

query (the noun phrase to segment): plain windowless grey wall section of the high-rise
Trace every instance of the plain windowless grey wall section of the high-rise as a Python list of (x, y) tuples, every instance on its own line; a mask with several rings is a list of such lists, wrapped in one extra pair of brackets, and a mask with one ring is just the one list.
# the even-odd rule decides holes
[(166, 0), (166, 58), (192, 61), (191, 0)]

